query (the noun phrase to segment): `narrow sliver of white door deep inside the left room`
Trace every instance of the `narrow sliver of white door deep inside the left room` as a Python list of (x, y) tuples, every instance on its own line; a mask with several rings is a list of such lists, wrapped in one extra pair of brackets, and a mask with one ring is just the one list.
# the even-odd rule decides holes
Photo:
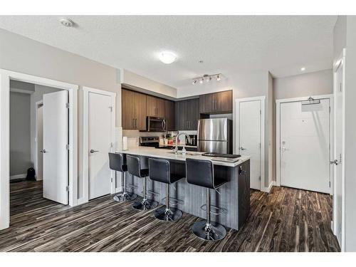
[(37, 108), (37, 136), (36, 136), (36, 144), (37, 144), (37, 180), (43, 179), (43, 105), (38, 105)]

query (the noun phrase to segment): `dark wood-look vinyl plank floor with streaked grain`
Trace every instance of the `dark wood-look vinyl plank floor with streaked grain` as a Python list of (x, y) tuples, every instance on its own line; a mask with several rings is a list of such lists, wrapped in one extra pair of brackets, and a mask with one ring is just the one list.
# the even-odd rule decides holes
[(164, 223), (112, 196), (70, 208), (42, 197), (41, 182), (11, 184), (11, 226), (0, 251), (340, 251), (330, 229), (332, 197), (273, 187), (251, 191), (251, 214), (221, 241), (201, 241), (196, 216)]

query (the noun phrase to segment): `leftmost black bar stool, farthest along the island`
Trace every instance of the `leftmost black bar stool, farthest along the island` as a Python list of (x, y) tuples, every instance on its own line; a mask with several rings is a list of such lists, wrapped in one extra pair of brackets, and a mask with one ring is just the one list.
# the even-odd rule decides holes
[(136, 199), (137, 194), (129, 193), (126, 191), (126, 172), (127, 172), (127, 165), (125, 164), (124, 156), (120, 153), (110, 153), (109, 152), (109, 166), (110, 169), (116, 172), (122, 172), (123, 176), (123, 184), (122, 184), (122, 192), (115, 194), (114, 200), (123, 202)]

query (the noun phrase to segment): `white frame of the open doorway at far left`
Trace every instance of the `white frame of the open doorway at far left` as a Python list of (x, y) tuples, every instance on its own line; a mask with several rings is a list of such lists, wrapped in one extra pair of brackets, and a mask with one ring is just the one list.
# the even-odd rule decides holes
[(10, 140), (10, 80), (45, 85), (69, 93), (69, 205), (77, 205), (78, 199), (78, 85), (34, 75), (0, 69), (0, 229), (10, 224), (10, 179), (9, 179), (9, 140)]

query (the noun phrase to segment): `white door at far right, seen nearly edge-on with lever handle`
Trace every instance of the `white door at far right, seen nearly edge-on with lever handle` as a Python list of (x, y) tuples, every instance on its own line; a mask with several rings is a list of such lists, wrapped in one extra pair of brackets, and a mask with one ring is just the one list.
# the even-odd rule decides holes
[(344, 92), (342, 89), (343, 63), (337, 68), (334, 75), (334, 155), (333, 155), (333, 177), (334, 177), (334, 196), (333, 196), (333, 223), (334, 234), (341, 246), (342, 244), (342, 184), (343, 168), (342, 158), (344, 153), (344, 115), (343, 101)]

